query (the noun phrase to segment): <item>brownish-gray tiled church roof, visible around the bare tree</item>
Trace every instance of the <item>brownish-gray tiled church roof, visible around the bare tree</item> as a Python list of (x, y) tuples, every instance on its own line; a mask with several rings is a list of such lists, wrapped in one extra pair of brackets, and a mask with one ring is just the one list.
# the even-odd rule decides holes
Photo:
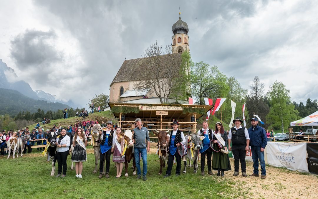
[[(168, 54), (169, 55), (169, 54)], [(168, 55), (161, 55), (161, 58), (165, 58), (165, 56)], [(181, 57), (181, 53), (174, 53), (172, 56), (176, 56), (178, 58)], [(136, 80), (134, 77), (135, 75), (142, 75), (142, 74), (135, 74), (135, 71), (138, 71), (138, 67), (141, 67), (142, 63), (147, 59), (148, 57), (143, 57), (143, 58), (137, 58), (137, 59), (132, 59), (132, 60), (125, 60), (121, 68), (119, 68), (116, 76), (114, 77), (112, 83), (116, 82), (127, 82), (127, 81), (134, 81)], [(163, 60), (163, 59), (162, 59)], [(178, 65), (180, 67), (181, 65), (181, 59), (180, 59), (180, 64)]]

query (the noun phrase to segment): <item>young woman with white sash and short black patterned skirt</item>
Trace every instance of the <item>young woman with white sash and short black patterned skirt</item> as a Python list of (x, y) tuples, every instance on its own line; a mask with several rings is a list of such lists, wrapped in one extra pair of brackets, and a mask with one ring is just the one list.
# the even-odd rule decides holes
[(82, 178), (83, 162), (87, 160), (86, 156), (87, 137), (82, 128), (78, 128), (73, 137), (73, 154), (71, 160), (75, 162), (76, 177)]

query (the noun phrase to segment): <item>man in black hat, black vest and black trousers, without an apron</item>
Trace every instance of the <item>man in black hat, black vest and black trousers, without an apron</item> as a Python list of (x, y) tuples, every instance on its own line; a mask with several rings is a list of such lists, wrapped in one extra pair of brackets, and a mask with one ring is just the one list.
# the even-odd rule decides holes
[[(241, 118), (237, 117), (233, 120), (234, 127), (232, 127), (229, 131), (228, 136), (228, 145), (229, 150), (232, 150), (234, 155), (234, 174), (233, 176), (239, 175), (239, 162), (241, 162), (241, 170), (243, 177), (247, 177), (246, 174), (246, 162), (245, 155), (246, 151), (250, 149), (250, 137), (248, 131), (245, 127), (242, 127), (241, 124), (243, 121)], [(232, 147), (231, 147), (232, 141)]]

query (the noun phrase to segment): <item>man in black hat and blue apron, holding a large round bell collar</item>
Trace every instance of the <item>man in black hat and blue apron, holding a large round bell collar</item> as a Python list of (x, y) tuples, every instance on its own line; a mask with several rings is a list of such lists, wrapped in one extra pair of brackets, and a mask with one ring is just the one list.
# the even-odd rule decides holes
[(163, 176), (164, 178), (169, 177), (171, 175), (173, 160), (176, 157), (176, 176), (180, 175), (181, 170), (181, 156), (177, 152), (178, 146), (181, 146), (180, 142), (185, 143), (185, 137), (183, 135), (183, 132), (178, 129), (179, 123), (174, 121), (172, 123), (172, 131), (170, 132), (170, 139), (167, 139), (166, 141), (169, 142), (169, 157), (168, 157), (168, 168), (166, 171), (166, 175)]

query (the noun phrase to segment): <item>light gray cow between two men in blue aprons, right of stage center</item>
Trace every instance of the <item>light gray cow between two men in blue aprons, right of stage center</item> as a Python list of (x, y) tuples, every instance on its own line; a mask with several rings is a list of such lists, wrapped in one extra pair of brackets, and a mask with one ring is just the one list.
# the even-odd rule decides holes
[(185, 140), (186, 142), (188, 142), (190, 140), (190, 143), (192, 145), (194, 145), (193, 147), (193, 158), (191, 156), (191, 149), (188, 148), (188, 153), (185, 156), (185, 161), (184, 161), (184, 168), (183, 168), (183, 173), (187, 172), (187, 162), (189, 160), (189, 164), (191, 167), (191, 160), (193, 160), (193, 173), (197, 173), (197, 168), (198, 168), (198, 153), (199, 153), (199, 149), (201, 148), (201, 143), (202, 143), (202, 139), (204, 139), (204, 136), (200, 136), (197, 133), (193, 133), (191, 135), (186, 135), (185, 136)]

